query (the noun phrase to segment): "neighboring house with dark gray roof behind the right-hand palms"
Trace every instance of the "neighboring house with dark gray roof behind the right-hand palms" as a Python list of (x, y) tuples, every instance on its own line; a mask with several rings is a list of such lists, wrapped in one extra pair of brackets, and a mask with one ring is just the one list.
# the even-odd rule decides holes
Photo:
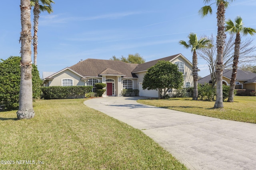
[[(232, 76), (232, 70), (223, 70), (222, 83), (225, 85), (230, 85), (230, 80)], [(212, 84), (211, 75), (198, 80), (198, 84)], [(247, 89), (256, 91), (256, 73), (237, 70), (236, 72), (236, 89)]]

